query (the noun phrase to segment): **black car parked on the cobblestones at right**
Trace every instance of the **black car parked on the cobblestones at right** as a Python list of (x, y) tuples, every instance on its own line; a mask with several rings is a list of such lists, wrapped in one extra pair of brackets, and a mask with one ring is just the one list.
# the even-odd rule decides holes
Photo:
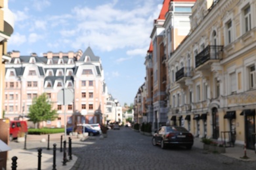
[(186, 128), (180, 126), (162, 126), (152, 138), (152, 144), (166, 146), (186, 146), (191, 149), (194, 144), (194, 136)]

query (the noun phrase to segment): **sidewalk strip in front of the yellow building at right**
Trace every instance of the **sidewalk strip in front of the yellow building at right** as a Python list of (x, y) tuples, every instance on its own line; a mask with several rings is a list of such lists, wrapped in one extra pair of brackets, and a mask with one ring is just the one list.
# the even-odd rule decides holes
[[(195, 138), (194, 139), (194, 147), (203, 149), (203, 143), (200, 142), (201, 139)], [(256, 154), (254, 150), (246, 150), (246, 156), (248, 159), (242, 159), (244, 157), (244, 147), (243, 146), (234, 146), (226, 148), (226, 153), (223, 153), (224, 156), (228, 156), (231, 158), (236, 158), (237, 160), (242, 161), (256, 161)]]

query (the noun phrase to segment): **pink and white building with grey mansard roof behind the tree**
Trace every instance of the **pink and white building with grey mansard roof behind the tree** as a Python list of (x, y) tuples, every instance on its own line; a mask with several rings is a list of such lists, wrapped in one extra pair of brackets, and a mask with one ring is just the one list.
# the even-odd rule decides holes
[(20, 56), (20, 52), (12, 51), (9, 55), (12, 59), (6, 64), (5, 117), (26, 117), (33, 98), (47, 93), (53, 109), (58, 110), (58, 119), (43, 122), (43, 126), (64, 126), (64, 105), (58, 103), (57, 93), (66, 86), (74, 93), (74, 100), (66, 105), (68, 124), (105, 121), (108, 92), (104, 71), (90, 47), (84, 53), (47, 52), (39, 57), (35, 53)]

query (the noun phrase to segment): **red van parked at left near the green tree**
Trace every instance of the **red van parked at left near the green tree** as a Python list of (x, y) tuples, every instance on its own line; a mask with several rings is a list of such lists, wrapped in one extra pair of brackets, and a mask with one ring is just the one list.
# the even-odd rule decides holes
[(28, 125), (26, 121), (23, 120), (11, 120), (10, 121), (10, 141), (12, 139), (17, 138), (18, 135), (24, 135), (28, 133)]

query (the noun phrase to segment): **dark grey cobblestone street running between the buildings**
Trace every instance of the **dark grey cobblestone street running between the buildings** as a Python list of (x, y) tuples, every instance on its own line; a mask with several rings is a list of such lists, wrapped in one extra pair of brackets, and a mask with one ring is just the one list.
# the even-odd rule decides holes
[[(108, 137), (86, 141), (73, 148), (77, 162), (72, 169), (255, 169), (256, 162), (239, 161), (200, 148), (167, 148), (151, 144), (151, 137), (128, 127), (108, 130)], [(75, 143), (74, 143), (75, 147)]]

